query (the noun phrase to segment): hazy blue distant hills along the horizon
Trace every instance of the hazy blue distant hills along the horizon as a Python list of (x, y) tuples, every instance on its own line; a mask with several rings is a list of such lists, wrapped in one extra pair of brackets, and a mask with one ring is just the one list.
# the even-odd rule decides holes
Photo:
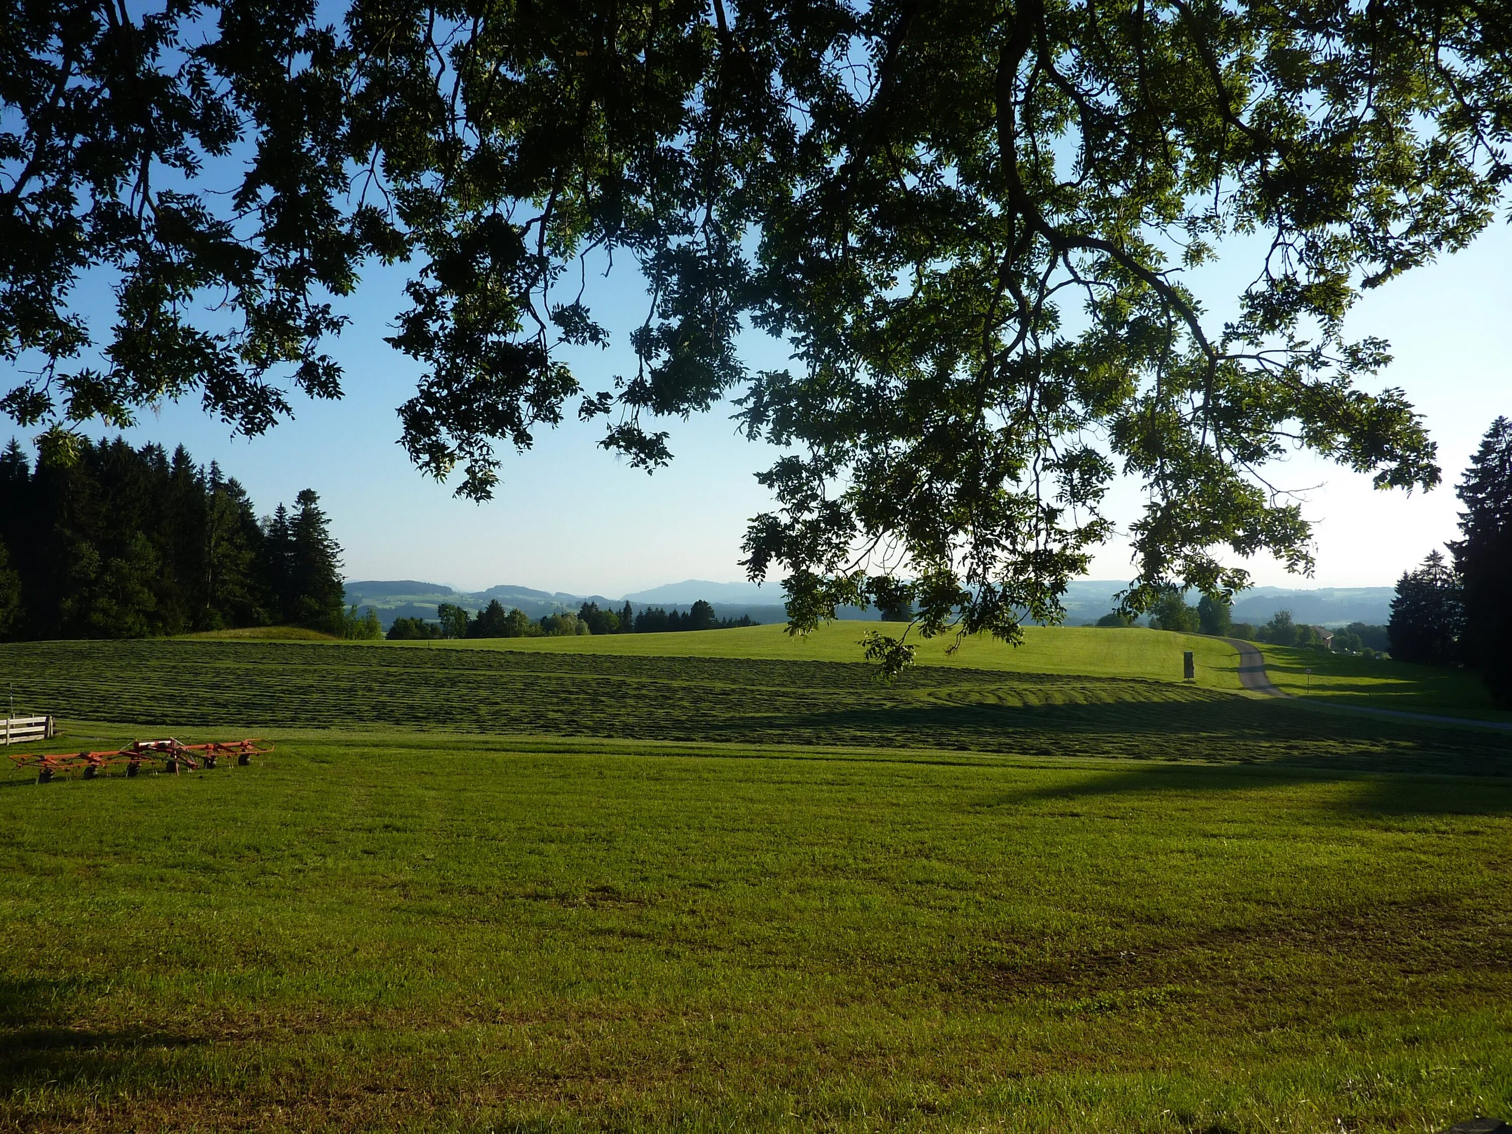
[[(1117, 593), (1128, 587), (1120, 579), (1077, 579), (1066, 590), (1066, 623), (1080, 626), (1093, 623), (1117, 605)], [(1255, 587), (1244, 591), (1234, 603), (1234, 620), (1263, 623), (1276, 611), (1291, 611), (1300, 623), (1317, 626), (1344, 626), (1364, 621), (1371, 626), (1385, 624), (1391, 617), (1391, 587), (1320, 587), (1315, 590), (1291, 590), (1285, 587)], [(503, 584), (485, 591), (457, 591), (435, 582), (417, 579), (360, 579), (346, 584), (346, 602), (357, 606), (372, 606), (384, 629), (395, 618), (434, 618), (435, 606), (455, 603), (469, 611), (479, 611), (493, 599), (503, 606), (519, 606), (532, 618), (556, 611), (576, 611), (585, 602), (615, 609), (626, 602), (637, 611), (647, 606), (686, 611), (700, 599), (711, 603), (721, 618), (748, 615), (753, 621), (779, 623), (786, 620), (782, 606), (780, 584), (758, 587), (751, 582), (709, 582), (708, 579), (683, 579), (646, 591), (634, 591), (618, 599), (602, 594), (569, 594), (567, 591), (538, 591), (531, 587)], [(1188, 596), (1196, 602), (1196, 594)], [(842, 618), (875, 620), (875, 611), (845, 608)]]

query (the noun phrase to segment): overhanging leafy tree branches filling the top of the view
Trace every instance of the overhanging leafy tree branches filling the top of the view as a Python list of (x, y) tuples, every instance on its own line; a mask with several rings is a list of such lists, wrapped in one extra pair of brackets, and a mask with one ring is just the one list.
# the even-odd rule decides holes
[[(14, 419), (68, 451), (200, 396), (262, 432), (342, 395), (342, 302), (408, 262), (422, 470), (487, 497), (500, 448), (573, 413), (655, 467), (668, 419), (732, 398), (785, 454), (747, 565), (798, 631), (868, 602), (1057, 620), (1120, 472), (1148, 488), (1129, 609), (1241, 587), (1226, 553), (1306, 569), (1264, 464), (1436, 484), (1371, 389), (1387, 345), (1343, 321), (1512, 174), (1509, 0), (11, 0), (5, 26)], [(1252, 281), (1198, 293), (1229, 249)], [(564, 348), (608, 342), (590, 283), (626, 260), (646, 318), (599, 381)], [(792, 364), (753, 372), (747, 328)]]

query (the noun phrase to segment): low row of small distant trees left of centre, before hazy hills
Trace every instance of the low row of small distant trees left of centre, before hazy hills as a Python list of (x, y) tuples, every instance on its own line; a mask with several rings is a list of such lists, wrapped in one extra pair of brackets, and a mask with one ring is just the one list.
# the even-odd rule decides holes
[(561, 611), (531, 618), (519, 606), (508, 611), (493, 599), (476, 615), (461, 606), (443, 602), (435, 608), (435, 621), (426, 618), (395, 618), (389, 629), (393, 641), (423, 638), (556, 638), (578, 634), (667, 634), (670, 631), (724, 631), (756, 626), (750, 615), (720, 618), (703, 599), (686, 612), (650, 606), (635, 611), (629, 602), (618, 611), (585, 602), (576, 614)]

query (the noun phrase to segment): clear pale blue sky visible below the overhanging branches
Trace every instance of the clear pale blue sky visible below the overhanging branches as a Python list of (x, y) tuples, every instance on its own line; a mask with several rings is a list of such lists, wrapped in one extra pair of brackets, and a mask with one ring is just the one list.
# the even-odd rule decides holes
[[(1214, 295), (1237, 290), (1232, 265), (1214, 269)], [(638, 322), (638, 280), (615, 274), (596, 308), (611, 331)], [(1199, 292), (1202, 290), (1199, 280)], [(314, 488), (345, 549), (349, 579), (423, 579), (463, 590), (517, 584), (549, 591), (620, 597), (664, 582), (742, 579), (741, 540), (750, 516), (770, 505), (753, 479), (773, 451), (735, 431), (730, 407), (671, 422), (676, 460), (655, 475), (597, 448), (602, 422), (569, 420), (543, 429), (523, 455), (505, 449), (496, 497), (473, 503), (420, 475), (398, 445), (396, 407), (414, 390), (419, 367), (383, 342), (402, 302), (401, 275), (369, 275), (352, 324), (333, 354), (346, 366), (340, 402), (295, 399), (295, 419), (257, 438), (234, 437), (206, 417), (198, 401), (145, 411), (124, 431), (141, 445), (183, 443), (198, 461), (218, 460), (263, 513)], [(1222, 318), (1222, 308), (1216, 310)], [(1350, 337), (1391, 342), (1394, 363), (1374, 384), (1397, 386), (1424, 414), (1439, 446), (1444, 485), (1432, 493), (1380, 493), (1370, 478), (1308, 455), (1270, 469), (1273, 484), (1305, 490), (1317, 525), (1314, 578), (1288, 575), (1269, 559), (1249, 562), (1256, 585), (1382, 587), (1456, 535), (1453, 485), (1498, 414), (1512, 414), (1512, 230), (1497, 224), (1471, 248), (1367, 293), (1350, 314)], [(623, 333), (615, 334), (623, 343)], [(745, 361), (782, 364), (770, 340), (747, 337)], [(608, 389), (627, 369), (624, 351), (581, 352), (584, 386)], [(18, 432), (0, 419), (0, 438)], [(98, 431), (95, 431), (98, 434)], [(1122, 525), (1139, 514), (1134, 485), (1108, 500)], [(1128, 544), (1114, 537), (1090, 570), (1128, 579)], [(780, 587), (767, 584), (773, 602)]]

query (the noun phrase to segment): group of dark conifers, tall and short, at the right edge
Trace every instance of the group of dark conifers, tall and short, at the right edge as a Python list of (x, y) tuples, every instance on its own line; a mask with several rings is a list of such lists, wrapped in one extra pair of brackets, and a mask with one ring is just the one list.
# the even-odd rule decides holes
[(1497, 417), (1456, 490), (1465, 510), (1450, 555), (1403, 572), (1391, 600), (1391, 656), (1479, 670), (1512, 708), (1512, 420)]

